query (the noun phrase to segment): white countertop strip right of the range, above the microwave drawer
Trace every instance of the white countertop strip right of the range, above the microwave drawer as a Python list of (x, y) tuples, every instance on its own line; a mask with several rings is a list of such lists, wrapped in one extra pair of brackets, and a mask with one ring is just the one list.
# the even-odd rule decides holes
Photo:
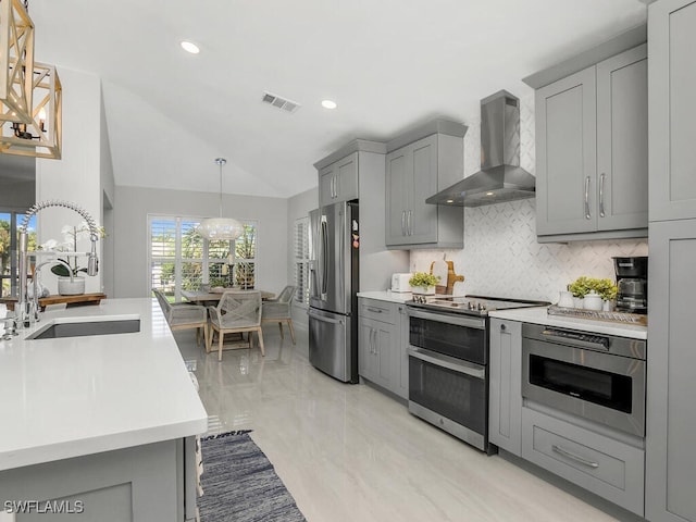
[(544, 308), (514, 308), (511, 310), (497, 310), (489, 312), (490, 318), (507, 319), (524, 323), (558, 326), (561, 328), (580, 330), (597, 334), (630, 337), (632, 339), (647, 339), (647, 326), (614, 323), (610, 321), (595, 321), (589, 319), (567, 318), (562, 315), (549, 315)]

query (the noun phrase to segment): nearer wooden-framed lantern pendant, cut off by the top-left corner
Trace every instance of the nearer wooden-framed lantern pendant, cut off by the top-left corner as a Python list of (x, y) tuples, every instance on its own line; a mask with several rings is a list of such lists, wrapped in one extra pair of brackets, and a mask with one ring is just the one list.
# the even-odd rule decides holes
[(32, 123), (34, 22), (20, 0), (0, 0), (0, 121)]

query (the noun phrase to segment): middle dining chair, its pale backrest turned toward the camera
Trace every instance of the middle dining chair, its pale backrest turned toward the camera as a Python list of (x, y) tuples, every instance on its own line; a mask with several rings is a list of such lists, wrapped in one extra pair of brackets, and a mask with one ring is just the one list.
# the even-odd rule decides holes
[(210, 336), (208, 351), (212, 344), (212, 333), (217, 331), (217, 360), (222, 361), (222, 347), (225, 334), (249, 333), (249, 348), (253, 347), (253, 332), (259, 336), (261, 356), (265, 356), (263, 348), (263, 332), (261, 332), (261, 291), (259, 290), (227, 290), (223, 293), (216, 307), (208, 307), (210, 312)]

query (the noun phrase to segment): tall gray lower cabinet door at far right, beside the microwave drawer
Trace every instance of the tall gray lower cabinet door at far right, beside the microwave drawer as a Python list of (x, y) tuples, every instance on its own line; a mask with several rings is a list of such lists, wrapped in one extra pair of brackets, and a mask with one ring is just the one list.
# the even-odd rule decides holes
[(646, 518), (696, 522), (696, 220), (650, 223), (649, 250)]

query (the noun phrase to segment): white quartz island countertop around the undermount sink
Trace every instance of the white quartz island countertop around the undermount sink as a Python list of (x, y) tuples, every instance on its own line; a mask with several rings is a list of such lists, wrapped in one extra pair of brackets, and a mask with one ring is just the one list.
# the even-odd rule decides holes
[[(26, 340), (54, 320), (126, 316), (140, 319), (140, 332)], [(0, 340), (0, 471), (207, 431), (206, 409), (156, 300), (47, 311), (18, 332)]]

